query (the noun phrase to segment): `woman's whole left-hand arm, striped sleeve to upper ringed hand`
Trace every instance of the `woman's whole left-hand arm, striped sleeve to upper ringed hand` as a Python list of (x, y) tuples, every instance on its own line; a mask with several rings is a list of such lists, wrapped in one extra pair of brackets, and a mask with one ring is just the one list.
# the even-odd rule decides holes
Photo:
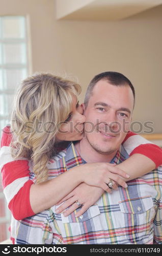
[(110, 188), (107, 187), (106, 181), (110, 178), (121, 186), (126, 185), (121, 177), (119, 178), (115, 173), (124, 177), (126, 174), (105, 163), (91, 163), (73, 167), (70, 172), (66, 172), (55, 179), (34, 184), (30, 180), (28, 160), (14, 160), (12, 158), (10, 153), (11, 138), (10, 127), (5, 127), (1, 140), (0, 163), (4, 194), (9, 209), (17, 220), (32, 216), (55, 205), (82, 182), (100, 186), (108, 192)]

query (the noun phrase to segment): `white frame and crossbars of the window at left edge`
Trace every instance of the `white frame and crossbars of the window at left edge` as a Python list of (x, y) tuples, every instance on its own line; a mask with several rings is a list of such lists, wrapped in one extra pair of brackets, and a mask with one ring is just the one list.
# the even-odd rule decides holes
[[(2, 38), (2, 29), (3, 29), (3, 19), (5, 18), (23, 18), (23, 22), (24, 22), (24, 31), (23, 31), (23, 34), (24, 34), (24, 37), (23, 38)], [(22, 26), (22, 25), (21, 25)], [(4, 81), (5, 81), (5, 72), (6, 70), (25, 70), (25, 77), (29, 75), (29, 71), (30, 71), (30, 68), (31, 67), (31, 62), (29, 61), (30, 60), (30, 44), (29, 44), (29, 17), (28, 16), (25, 16), (25, 15), (5, 15), (5, 16), (0, 16), (0, 75), (2, 74), (2, 78), (0, 80), (0, 82), (2, 81), (2, 83), (4, 84)], [(4, 59), (4, 52), (3, 52), (3, 46), (7, 45), (7, 44), (25, 44), (25, 63), (6, 63), (4, 64), (3, 63), (3, 59)], [(29, 63), (30, 62), (30, 63)], [(30, 66), (29, 66), (30, 64)], [(23, 76), (24, 76), (23, 74)], [(24, 78), (25, 78), (24, 77)], [(19, 81), (20, 82), (20, 81)], [(1, 84), (0, 84), (0, 95), (4, 96), (4, 95), (12, 95), (14, 96), (15, 94), (15, 90), (16, 88), (14, 89), (5, 89), (4, 86), (2, 85), (1, 87)], [(4, 100), (5, 102), (5, 100)], [(5, 103), (4, 103), (5, 104)], [(8, 104), (9, 105), (9, 104)], [(5, 110), (5, 105), (4, 105), (4, 110)], [(1, 129), (1, 132), (2, 132), (2, 129), (4, 128), (4, 126), (6, 126), (8, 123), (9, 123), (9, 120), (10, 120), (10, 115), (11, 113), (7, 113), (6, 115), (5, 114), (2, 114), (0, 112), (0, 129)], [(2, 123), (6, 123), (5, 125), (2, 125)], [(2, 127), (2, 126), (3, 127)], [(1, 138), (1, 132), (0, 132), (0, 138)], [(0, 179), (0, 182), (1, 182), (1, 179)], [(0, 184), (0, 187), (1, 187), (1, 184)], [(5, 196), (4, 196), (4, 193), (2, 191), (2, 189), (0, 189), (0, 199), (4, 199), (4, 202), (5, 202), (5, 216), (4, 217), (1, 217), (0, 215), (0, 224), (6, 224), (6, 234), (7, 234), (7, 237), (6, 239), (8, 239), (10, 237), (10, 232), (8, 230), (9, 226), (10, 226), (10, 222), (11, 222), (11, 212), (9, 211), (8, 209), (8, 206), (7, 206), (7, 201), (5, 199)], [(1, 213), (1, 212), (0, 212)], [(1, 242), (1, 241), (0, 241)]]

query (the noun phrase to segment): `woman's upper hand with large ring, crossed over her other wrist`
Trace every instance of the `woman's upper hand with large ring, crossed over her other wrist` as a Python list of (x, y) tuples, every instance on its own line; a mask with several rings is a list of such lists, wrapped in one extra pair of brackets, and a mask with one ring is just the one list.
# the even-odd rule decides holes
[(129, 175), (116, 167), (116, 164), (87, 163), (84, 165), (79, 165), (77, 168), (80, 172), (83, 172), (83, 182), (88, 185), (97, 186), (109, 192), (110, 188), (107, 184), (110, 182), (110, 180), (113, 180), (122, 187), (127, 187), (126, 182), (122, 180), (120, 176), (129, 178)]

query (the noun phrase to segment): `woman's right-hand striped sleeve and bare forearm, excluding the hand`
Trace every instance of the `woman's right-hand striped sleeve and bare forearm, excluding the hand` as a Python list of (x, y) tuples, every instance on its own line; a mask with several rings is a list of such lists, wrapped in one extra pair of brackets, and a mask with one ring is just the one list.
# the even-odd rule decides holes
[(123, 146), (129, 154), (129, 158), (118, 165), (118, 167), (129, 174), (132, 180), (162, 164), (162, 150), (140, 135), (129, 132), (123, 141)]

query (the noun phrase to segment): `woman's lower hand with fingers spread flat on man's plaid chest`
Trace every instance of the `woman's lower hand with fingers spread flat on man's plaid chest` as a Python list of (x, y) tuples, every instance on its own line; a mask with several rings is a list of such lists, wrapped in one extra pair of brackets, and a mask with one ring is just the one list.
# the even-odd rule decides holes
[(56, 212), (57, 214), (60, 214), (60, 212), (63, 212), (67, 207), (71, 205), (69, 209), (63, 212), (64, 216), (68, 216), (78, 208), (78, 205), (76, 204), (76, 201), (78, 201), (80, 204), (82, 204), (82, 208), (80, 208), (80, 210), (77, 211), (77, 214), (75, 216), (79, 217), (80, 215), (84, 214), (84, 212), (90, 206), (97, 202), (97, 200), (100, 198), (103, 192), (104, 190), (100, 187), (89, 186), (85, 183), (81, 183), (76, 188), (74, 188), (69, 195), (67, 195), (65, 198), (63, 198), (60, 202), (57, 203), (57, 205), (59, 205), (64, 202), (56, 210)]

